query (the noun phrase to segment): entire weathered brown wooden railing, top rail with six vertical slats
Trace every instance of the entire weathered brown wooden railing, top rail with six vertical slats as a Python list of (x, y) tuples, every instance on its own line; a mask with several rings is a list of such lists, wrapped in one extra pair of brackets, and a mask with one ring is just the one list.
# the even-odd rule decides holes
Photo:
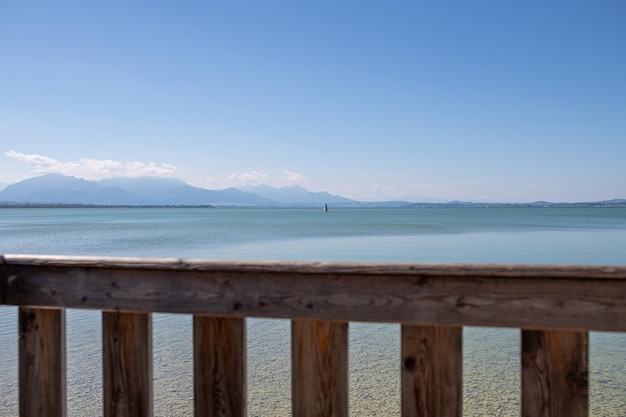
[(105, 416), (152, 414), (151, 312), (193, 315), (196, 416), (246, 415), (246, 317), (292, 323), (294, 416), (348, 415), (348, 322), (401, 324), (402, 416), (461, 416), (462, 326), (522, 329), (524, 417), (588, 414), (588, 332), (626, 332), (626, 267), (5, 255), (22, 416), (64, 416), (65, 309), (103, 311)]

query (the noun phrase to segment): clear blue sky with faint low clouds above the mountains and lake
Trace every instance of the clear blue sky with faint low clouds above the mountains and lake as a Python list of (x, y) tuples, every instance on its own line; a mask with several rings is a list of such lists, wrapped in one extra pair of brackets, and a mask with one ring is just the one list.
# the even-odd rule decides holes
[(0, 182), (626, 198), (624, 1), (0, 3)]

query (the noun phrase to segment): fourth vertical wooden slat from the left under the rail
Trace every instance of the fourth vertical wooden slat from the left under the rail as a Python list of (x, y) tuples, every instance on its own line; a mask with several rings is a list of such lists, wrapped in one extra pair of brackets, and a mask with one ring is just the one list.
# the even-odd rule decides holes
[(348, 323), (292, 320), (295, 417), (347, 417)]

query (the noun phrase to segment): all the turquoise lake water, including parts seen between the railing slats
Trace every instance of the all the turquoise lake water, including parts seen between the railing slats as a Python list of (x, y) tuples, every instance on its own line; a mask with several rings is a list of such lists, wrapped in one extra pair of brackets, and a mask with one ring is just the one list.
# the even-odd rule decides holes
[[(626, 265), (626, 209), (0, 209), (0, 253)], [(68, 415), (102, 414), (100, 314), (67, 313)], [(155, 415), (193, 410), (191, 318), (153, 315)], [(248, 320), (250, 416), (288, 416), (289, 322)], [(464, 415), (518, 416), (520, 334), (464, 328)], [(590, 337), (594, 416), (626, 415), (626, 335)], [(350, 324), (350, 412), (399, 416), (399, 326)], [(17, 414), (17, 309), (0, 307), (0, 416)]]

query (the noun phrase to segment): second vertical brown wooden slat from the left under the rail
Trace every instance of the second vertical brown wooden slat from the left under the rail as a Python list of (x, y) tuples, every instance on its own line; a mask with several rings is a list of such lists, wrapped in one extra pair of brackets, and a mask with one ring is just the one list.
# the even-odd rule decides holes
[(102, 313), (104, 416), (152, 416), (152, 317)]

